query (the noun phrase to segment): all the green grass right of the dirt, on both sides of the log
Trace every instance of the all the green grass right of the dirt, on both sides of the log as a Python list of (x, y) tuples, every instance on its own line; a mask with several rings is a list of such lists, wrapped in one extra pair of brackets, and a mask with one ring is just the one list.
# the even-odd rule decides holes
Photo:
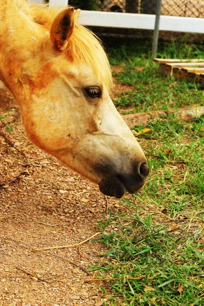
[[(165, 45), (160, 56), (204, 58), (201, 46), (182, 44)], [(141, 112), (203, 105), (196, 82), (164, 77), (144, 49), (111, 50), (111, 63), (122, 67), (115, 79), (132, 86), (115, 100), (118, 107)], [(203, 305), (204, 118), (183, 122), (169, 114), (145, 127), (152, 132), (138, 138), (150, 166), (148, 180), (98, 222), (104, 254), (92, 270), (98, 278), (117, 277), (101, 282), (104, 305)], [(170, 231), (172, 224), (177, 228)]]

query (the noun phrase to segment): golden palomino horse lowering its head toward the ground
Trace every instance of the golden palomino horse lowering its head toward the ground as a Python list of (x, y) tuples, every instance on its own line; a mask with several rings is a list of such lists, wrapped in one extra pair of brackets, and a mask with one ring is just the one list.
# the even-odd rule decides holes
[(140, 191), (143, 150), (112, 101), (112, 74), (80, 10), (0, 0), (0, 79), (31, 141), (108, 196)]

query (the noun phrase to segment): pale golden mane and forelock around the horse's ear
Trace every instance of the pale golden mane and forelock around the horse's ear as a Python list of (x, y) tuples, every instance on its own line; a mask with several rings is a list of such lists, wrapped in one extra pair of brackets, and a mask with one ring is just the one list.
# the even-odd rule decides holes
[[(35, 23), (41, 24), (44, 29), (50, 30), (53, 20), (64, 8), (49, 8), (47, 5), (29, 5), (27, 12), (29, 18)], [(109, 92), (112, 91), (112, 73), (110, 64), (102, 46), (96, 35), (89, 29), (79, 24), (79, 12), (74, 13), (74, 30), (69, 39), (67, 48), (67, 58), (70, 61), (83, 61), (88, 64), (100, 82), (104, 83)]]

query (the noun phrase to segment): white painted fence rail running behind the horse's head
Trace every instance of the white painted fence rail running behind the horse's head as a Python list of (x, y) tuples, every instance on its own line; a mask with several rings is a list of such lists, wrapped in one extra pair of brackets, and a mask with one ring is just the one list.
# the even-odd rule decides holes
[[(42, 3), (43, 0), (29, 0)], [(65, 6), (68, 0), (49, 0), (50, 6)], [(79, 22), (97, 27), (154, 30), (155, 15), (81, 11)], [(164, 16), (160, 18), (160, 31), (204, 33), (204, 18)]]

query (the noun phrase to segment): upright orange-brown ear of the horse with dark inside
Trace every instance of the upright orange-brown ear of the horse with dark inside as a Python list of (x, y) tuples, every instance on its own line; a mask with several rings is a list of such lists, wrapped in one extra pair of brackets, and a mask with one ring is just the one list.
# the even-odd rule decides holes
[(69, 7), (60, 12), (54, 19), (50, 29), (50, 39), (57, 50), (66, 49), (74, 27), (74, 8)]

